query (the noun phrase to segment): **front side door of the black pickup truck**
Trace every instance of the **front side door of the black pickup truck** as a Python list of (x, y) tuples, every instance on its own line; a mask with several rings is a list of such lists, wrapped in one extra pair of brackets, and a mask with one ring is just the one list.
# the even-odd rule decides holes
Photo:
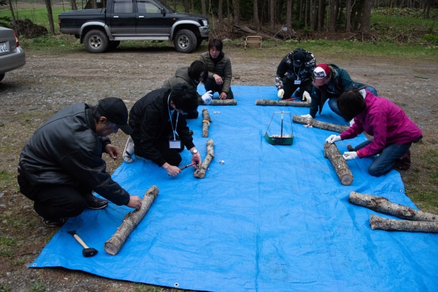
[(137, 15), (136, 26), (137, 35), (144, 37), (162, 37), (168, 40), (170, 29), (175, 22), (166, 11), (163, 15), (161, 7), (156, 6), (156, 3), (147, 0), (136, 0)]

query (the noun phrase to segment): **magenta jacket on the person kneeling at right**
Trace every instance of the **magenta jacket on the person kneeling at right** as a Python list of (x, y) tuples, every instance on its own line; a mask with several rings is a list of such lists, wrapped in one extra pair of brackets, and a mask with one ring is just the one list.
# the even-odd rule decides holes
[(357, 151), (359, 158), (378, 154), (386, 145), (414, 142), (423, 135), (405, 112), (388, 99), (366, 90), (365, 104), (365, 110), (355, 117), (355, 123), (340, 135), (344, 140), (365, 131), (374, 137), (373, 142)]

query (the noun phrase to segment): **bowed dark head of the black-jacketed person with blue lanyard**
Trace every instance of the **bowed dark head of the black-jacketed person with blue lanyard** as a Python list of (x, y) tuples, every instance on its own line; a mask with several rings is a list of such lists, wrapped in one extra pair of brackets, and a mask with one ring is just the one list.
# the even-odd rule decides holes
[(191, 113), (196, 111), (199, 102), (197, 100), (197, 91), (187, 83), (178, 83), (170, 90), (170, 100), (175, 104), (177, 109)]

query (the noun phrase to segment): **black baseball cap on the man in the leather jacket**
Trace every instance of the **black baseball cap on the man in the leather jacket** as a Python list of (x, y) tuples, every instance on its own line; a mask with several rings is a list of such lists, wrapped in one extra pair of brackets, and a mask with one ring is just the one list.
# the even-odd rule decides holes
[(105, 97), (99, 100), (97, 111), (106, 119), (117, 126), (127, 135), (131, 135), (132, 128), (128, 124), (128, 109), (122, 99), (118, 97)]

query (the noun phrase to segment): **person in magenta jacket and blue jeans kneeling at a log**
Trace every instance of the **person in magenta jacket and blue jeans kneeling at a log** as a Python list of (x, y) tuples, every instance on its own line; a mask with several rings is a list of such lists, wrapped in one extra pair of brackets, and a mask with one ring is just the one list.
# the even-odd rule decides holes
[(344, 152), (344, 159), (378, 154), (368, 168), (369, 174), (374, 177), (384, 175), (394, 167), (403, 170), (409, 168), (409, 147), (419, 142), (423, 133), (401, 108), (365, 89), (343, 92), (337, 104), (342, 117), (346, 121), (354, 118), (354, 123), (341, 135), (331, 135), (325, 140), (327, 143), (355, 138), (363, 131), (373, 136), (352, 151)]

